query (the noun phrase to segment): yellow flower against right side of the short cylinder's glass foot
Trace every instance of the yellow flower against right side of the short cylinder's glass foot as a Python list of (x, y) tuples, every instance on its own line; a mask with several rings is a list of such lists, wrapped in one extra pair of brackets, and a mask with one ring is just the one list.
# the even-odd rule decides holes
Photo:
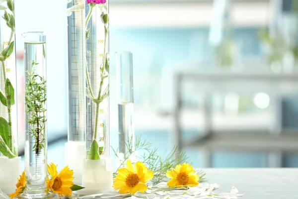
[(71, 196), (71, 187), (74, 185), (73, 170), (70, 170), (68, 166), (66, 166), (58, 174), (56, 165), (51, 163), (48, 165), (48, 172), (51, 176), (51, 180), (46, 180), (48, 191), (51, 190), (53, 193), (57, 193), (60, 196)]

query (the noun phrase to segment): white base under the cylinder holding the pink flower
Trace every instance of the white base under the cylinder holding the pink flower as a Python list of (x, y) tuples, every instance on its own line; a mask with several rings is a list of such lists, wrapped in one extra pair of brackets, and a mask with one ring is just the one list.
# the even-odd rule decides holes
[(100, 160), (84, 160), (82, 186), (79, 195), (93, 195), (112, 190), (113, 165), (112, 159), (101, 157)]

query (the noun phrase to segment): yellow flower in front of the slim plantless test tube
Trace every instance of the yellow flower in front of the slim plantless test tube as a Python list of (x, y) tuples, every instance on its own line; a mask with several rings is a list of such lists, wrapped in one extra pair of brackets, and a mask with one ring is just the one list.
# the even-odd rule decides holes
[(147, 191), (147, 181), (153, 178), (153, 172), (142, 163), (137, 162), (135, 169), (130, 160), (126, 161), (127, 168), (118, 169), (118, 175), (114, 179), (113, 188), (120, 194), (136, 194)]

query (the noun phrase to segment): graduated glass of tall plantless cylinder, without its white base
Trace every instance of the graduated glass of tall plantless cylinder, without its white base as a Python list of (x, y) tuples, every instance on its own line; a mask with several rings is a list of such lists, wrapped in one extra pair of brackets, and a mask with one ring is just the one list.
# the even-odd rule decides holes
[(77, 9), (69, 16), (69, 140), (85, 140), (85, 0), (73, 0)]

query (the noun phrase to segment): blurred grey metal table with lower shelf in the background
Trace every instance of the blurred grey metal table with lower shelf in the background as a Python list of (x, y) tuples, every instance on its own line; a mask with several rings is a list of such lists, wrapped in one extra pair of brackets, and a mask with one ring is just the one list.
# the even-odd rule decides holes
[[(190, 143), (182, 142), (181, 111), (182, 97), (184, 92), (183, 85), (191, 85), (188, 92), (200, 93), (203, 95), (203, 115), (204, 127), (203, 136)], [(189, 84), (191, 83), (191, 84)], [(229, 71), (229, 70), (187, 70), (184, 68), (174, 76), (174, 139), (178, 150), (183, 147), (204, 148), (205, 167), (211, 167), (210, 156), (216, 150), (236, 150), (236, 151), (255, 151), (255, 141), (266, 142), (257, 147), (258, 151), (272, 152), (274, 160), (269, 167), (279, 167), (282, 154), (284, 152), (298, 152), (296, 145), (298, 141), (297, 130), (285, 130), (281, 122), (281, 96), (298, 93), (298, 72), (291, 74), (275, 74), (270, 71)], [(254, 94), (256, 92), (266, 92), (271, 96), (271, 101), (275, 104), (275, 121), (266, 130), (255, 130), (251, 133), (249, 129), (216, 130), (212, 120), (211, 95), (214, 92), (233, 91), (239, 94)], [(227, 131), (228, 133), (223, 133)], [(245, 139), (241, 139), (244, 136)], [(243, 137), (243, 138), (244, 138)], [(232, 142), (236, 144), (233, 144)], [(243, 143), (245, 142), (245, 143)], [(249, 143), (248, 143), (249, 142)], [(274, 150), (272, 150), (272, 148)], [(277, 160), (277, 161), (276, 161)]]

